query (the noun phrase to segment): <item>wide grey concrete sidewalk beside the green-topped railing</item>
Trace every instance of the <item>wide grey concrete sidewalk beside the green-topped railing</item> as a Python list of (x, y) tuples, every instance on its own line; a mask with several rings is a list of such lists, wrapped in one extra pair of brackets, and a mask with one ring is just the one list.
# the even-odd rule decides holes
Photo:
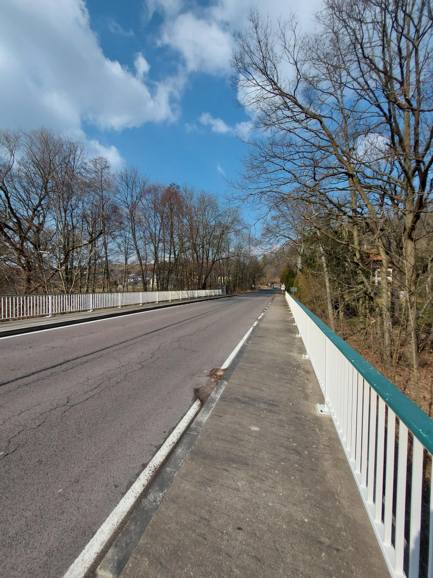
[(389, 576), (303, 353), (278, 296), (122, 578)]

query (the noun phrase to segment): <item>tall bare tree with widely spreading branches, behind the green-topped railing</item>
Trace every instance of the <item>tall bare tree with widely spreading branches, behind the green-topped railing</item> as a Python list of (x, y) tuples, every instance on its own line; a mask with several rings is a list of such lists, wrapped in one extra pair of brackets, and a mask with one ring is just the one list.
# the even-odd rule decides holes
[[(389, 269), (401, 272), (417, 390), (417, 224), (431, 195), (431, 9), (423, 0), (330, 0), (318, 20), (320, 34), (301, 34), (293, 16), (274, 32), (253, 12), (237, 35), (236, 88), (263, 132), (249, 139), (240, 189), (268, 210), (314, 208), (301, 217), (320, 238), (348, 248), (358, 297), (380, 313), (386, 357)], [(330, 220), (334, 226), (324, 226)], [(335, 235), (341, 226), (347, 234)], [(380, 258), (379, 294), (368, 247)]]

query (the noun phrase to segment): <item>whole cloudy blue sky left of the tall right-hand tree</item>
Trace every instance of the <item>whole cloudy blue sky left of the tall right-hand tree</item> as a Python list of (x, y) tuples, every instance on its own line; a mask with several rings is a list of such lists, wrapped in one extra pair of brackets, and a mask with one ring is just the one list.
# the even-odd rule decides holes
[(53, 128), (114, 169), (223, 196), (248, 130), (229, 86), (233, 32), (255, 6), (311, 27), (318, 2), (5, 0), (0, 128)]

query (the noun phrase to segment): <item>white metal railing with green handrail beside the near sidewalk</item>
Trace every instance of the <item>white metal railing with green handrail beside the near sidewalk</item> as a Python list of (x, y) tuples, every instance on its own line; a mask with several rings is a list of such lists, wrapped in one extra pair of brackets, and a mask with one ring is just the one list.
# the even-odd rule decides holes
[(286, 300), (391, 576), (433, 578), (433, 420), (302, 303)]

